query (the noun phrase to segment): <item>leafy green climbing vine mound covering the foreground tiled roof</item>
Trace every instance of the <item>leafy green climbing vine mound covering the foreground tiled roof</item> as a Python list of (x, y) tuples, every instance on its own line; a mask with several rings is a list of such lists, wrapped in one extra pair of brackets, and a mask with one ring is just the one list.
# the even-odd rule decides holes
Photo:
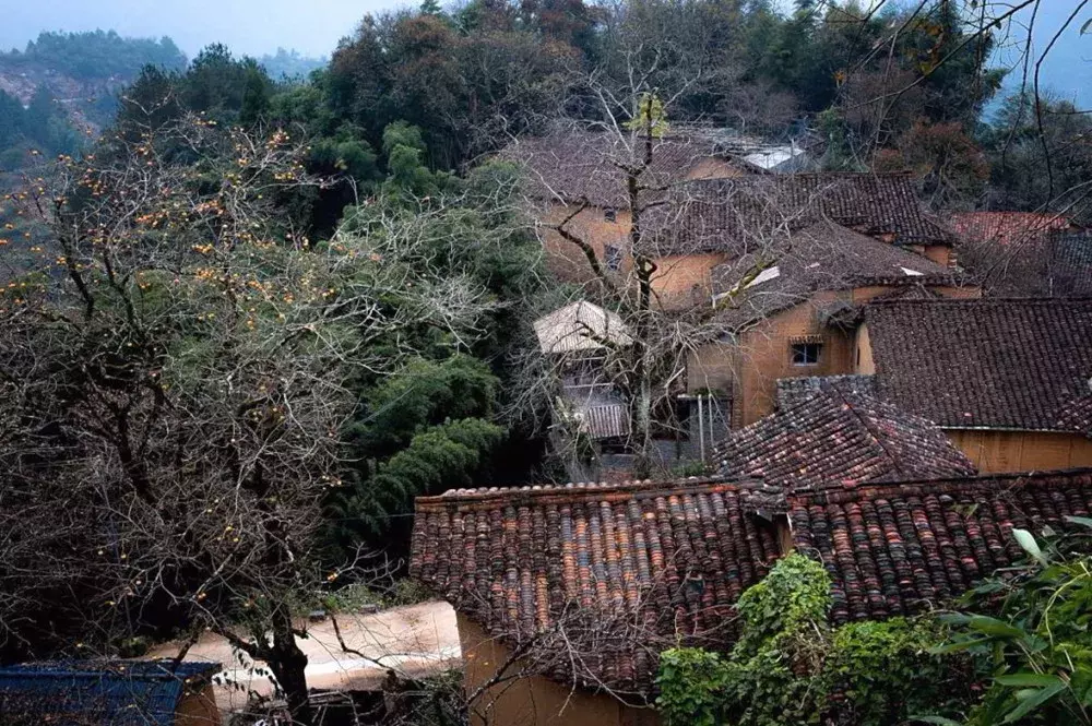
[(657, 706), (669, 724), (700, 726), (888, 726), (956, 712), (966, 694), (964, 664), (930, 652), (936, 624), (892, 618), (832, 629), (829, 607), (822, 566), (786, 557), (740, 597), (741, 633), (731, 653), (662, 654)]

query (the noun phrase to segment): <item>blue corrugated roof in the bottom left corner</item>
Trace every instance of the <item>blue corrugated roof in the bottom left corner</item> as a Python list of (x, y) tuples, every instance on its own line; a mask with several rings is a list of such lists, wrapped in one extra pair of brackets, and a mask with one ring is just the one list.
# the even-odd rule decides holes
[(34, 715), (49, 724), (169, 726), (182, 697), (202, 688), (219, 669), (215, 663), (171, 660), (9, 666), (0, 668), (0, 716)]

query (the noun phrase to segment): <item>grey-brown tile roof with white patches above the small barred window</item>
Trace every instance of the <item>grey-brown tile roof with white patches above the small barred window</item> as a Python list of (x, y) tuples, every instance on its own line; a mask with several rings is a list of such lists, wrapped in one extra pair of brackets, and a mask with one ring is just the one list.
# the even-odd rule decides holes
[[(751, 279), (763, 260), (772, 260), (767, 278)], [(819, 290), (960, 284), (957, 273), (928, 258), (829, 221), (717, 265), (711, 274), (713, 294), (724, 308), (720, 321), (729, 329), (799, 305)]]

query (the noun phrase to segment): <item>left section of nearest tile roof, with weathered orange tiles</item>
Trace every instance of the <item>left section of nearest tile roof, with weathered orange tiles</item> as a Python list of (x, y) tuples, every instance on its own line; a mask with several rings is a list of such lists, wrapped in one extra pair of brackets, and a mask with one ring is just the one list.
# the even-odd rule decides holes
[(547, 675), (648, 695), (677, 639), (732, 642), (733, 605), (779, 556), (751, 513), (770, 497), (715, 477), (451, 491), (417, 499), (410, 570), (489, 634), (535, 639)]

